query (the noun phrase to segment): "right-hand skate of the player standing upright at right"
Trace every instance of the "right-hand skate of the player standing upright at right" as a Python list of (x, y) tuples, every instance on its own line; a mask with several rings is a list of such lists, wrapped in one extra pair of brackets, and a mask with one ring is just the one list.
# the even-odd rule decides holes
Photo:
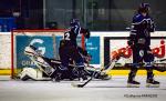
[(147, 79), (146, 87), (147, 88), (159, 88), (159, 82), (155, 81), (154, 79)]

